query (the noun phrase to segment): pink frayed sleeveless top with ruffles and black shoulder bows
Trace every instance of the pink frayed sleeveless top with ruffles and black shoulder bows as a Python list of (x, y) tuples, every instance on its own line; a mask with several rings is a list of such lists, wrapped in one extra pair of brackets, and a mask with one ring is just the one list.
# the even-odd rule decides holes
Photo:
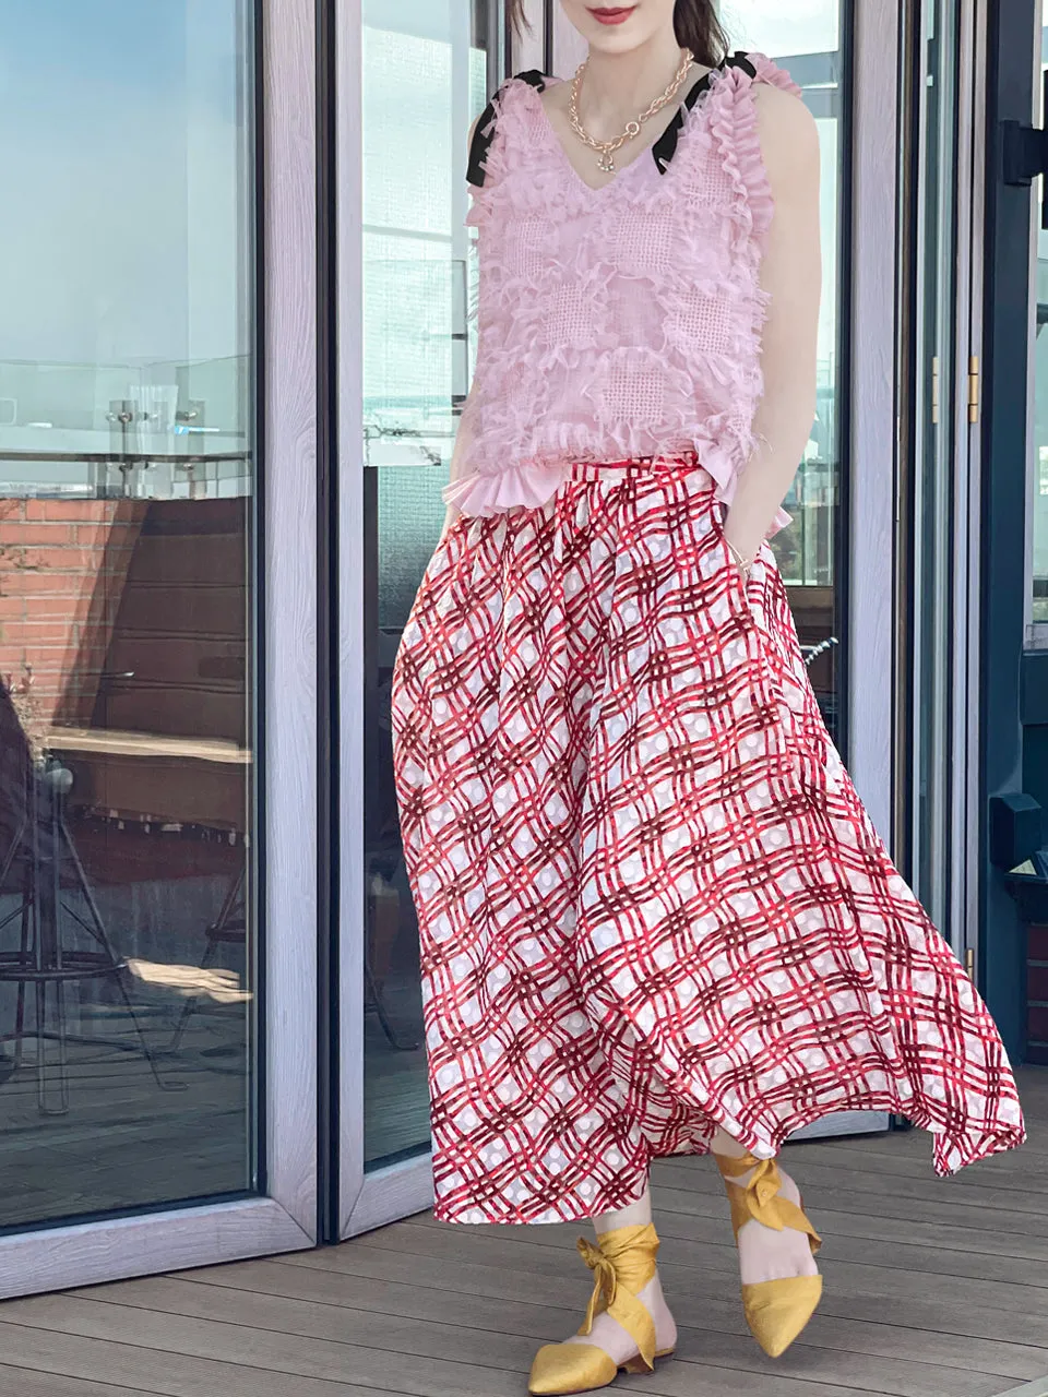
[[(736, 54), (651, 151), (591, 189), (532, 81), (558, 80), (510, 78), (478, 124), (478, 362), (444, 503), (535, 507), (574, 461), (690, 451), (729, 502), (756, 444), (769, 300), (753, 84), (801, 89), (766, 54)], [(780, 509), (771, 532), (788, 522)]]

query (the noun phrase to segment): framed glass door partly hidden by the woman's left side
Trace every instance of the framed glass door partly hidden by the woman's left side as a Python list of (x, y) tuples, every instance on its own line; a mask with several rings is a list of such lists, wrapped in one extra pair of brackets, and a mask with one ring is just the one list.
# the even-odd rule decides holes
[[(342, 324), (354, 412), (342, 427), (342, 598), (362, 622), (342, 672), (344, 1232), (430, 1201), (418, 926), (397, 824), (390, 679), (443, 524), (440, 488), (471, 379), (467, 145), (499, 81), (500, 13), (486, 0), (365, 0), (352, 59), (362, 81), (342, 158), (359, 158), (362, 205), (359, 232), (354, 212), (342, 214), (342, 237), (354, 242), (342, 264), (355, 288), (345, 293), (359, 292), (362, 310), (345, 303)], [(351, 32), (348, 14), (344, 22)]]

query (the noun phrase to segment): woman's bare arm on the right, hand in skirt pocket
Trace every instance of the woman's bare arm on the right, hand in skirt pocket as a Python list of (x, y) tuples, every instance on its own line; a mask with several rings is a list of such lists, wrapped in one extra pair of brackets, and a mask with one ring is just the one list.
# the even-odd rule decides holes
[(819, 133), (799, 98), (760, 84), (757, 130), (776, 212), (760, 267), (770, 292), (763, 330), (764, 393), (753, 430), (757, 446), (728, 509), (728, 542), (753, 557), (781, 506), (815, 420), (816, 342), (822, 295)]

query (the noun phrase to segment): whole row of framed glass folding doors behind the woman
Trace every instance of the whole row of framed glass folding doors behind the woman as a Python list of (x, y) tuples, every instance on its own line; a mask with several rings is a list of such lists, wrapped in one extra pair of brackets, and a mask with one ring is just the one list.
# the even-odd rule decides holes
[[(20, 1294), (429, 1203), (391, 666), (475, 353), (467, 133), (507, 73), (580, 53), (548, 0), (518, 38), (499, 0), (7, 8), (0, 1294)], [(1048, 1060), (1042, 15), (722, 18), (822, 138), (817, 416), (774, 542), (812, 682), (1013, 1060)]]

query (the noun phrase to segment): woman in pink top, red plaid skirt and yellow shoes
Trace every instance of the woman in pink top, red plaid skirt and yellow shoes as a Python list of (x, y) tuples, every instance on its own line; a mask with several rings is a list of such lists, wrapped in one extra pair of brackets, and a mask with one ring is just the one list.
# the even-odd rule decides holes
[(436, 1215), (595, 1224), (532, 1393), (672, 1352), (653, 1158), (713, 1154), (777, 1355), (822, 1287), (791, 1132), (900, 1112), (940, 1175), (1024, 1140), (767, 543), (815, 414), (815, 122), (710, 0), (562, 4), (587, 61), (471, 141), (478, 365), (393, 710)]

